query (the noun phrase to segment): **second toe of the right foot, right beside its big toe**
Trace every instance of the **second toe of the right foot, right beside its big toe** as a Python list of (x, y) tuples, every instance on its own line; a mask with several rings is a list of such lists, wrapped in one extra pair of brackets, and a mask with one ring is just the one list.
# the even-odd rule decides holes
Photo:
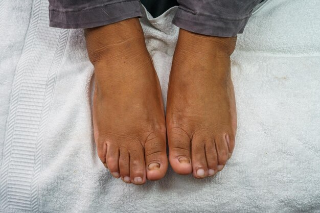
[(195, 178), (208, 176), (207, 159), (205, 159), (205, 140), (193, 137), (191, 142), (192, 170)]

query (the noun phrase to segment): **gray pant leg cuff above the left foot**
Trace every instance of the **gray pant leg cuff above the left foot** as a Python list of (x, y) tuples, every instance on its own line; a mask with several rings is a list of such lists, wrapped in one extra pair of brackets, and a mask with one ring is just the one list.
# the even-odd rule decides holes
[(49, 0), (49, 26), (93, 28), (140, 17), (140, 0)]

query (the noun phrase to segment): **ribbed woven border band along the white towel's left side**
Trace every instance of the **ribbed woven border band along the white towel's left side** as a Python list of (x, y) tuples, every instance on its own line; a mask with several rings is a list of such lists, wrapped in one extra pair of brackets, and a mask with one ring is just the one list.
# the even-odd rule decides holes
[(68, 31), (49, 28), (48, 1), (35, 0), (16, 66), (1, 166), (1, 209), (39, 211), (43, 136)]

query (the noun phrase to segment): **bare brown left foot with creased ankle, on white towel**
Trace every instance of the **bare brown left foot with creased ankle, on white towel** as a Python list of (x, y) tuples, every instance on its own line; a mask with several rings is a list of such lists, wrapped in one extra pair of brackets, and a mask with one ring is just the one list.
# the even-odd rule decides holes
[(86, 29), (95, 67), (94, 136), (115, 178), (143, 184), (168, 167), (161, 88), (138, 18)]

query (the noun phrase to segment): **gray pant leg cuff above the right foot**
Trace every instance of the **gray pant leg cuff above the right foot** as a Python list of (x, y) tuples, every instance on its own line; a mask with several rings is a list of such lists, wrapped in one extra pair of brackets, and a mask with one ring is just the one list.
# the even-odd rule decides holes
[(261, 0), (178, 0), (172, 20), (179, 28), (203, 35), (232, 37), (242, 33)]

